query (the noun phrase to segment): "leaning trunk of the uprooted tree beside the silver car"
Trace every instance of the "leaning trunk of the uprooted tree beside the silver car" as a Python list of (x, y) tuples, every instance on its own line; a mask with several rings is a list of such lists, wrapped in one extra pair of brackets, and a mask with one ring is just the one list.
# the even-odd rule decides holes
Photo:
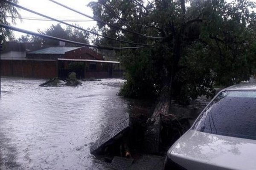
[[(160, 130), (161, 130), (161, 116), (169, 114), (170, 106), (171, 106), (171, 90), (172, 83), (175, 77), (178, 64), (181, 57), (181, 49), (183, 45), (183, 36), (186, 28), (185, 24), (185, 0), (180, 0), (180, 6), (183, 13), (183, 24), (178, 31), (178, 34), (173, 39), (173, 56), (172, 56), (172, 68), (168, 69), (167, 66), (163, 66), (163, 73), (165, 73), (165, 79), (163, 83), (163, 88), (158, 99), (157, 105), (154, 109), (154, 112), (151, 116), (150, 121), (148, 121), (148, 125), (145, 131), (144, 138), (144, 151), (146, 153), (159, 153), (160, 150)], [(176, 32), (176, 31), (175, 31)]]

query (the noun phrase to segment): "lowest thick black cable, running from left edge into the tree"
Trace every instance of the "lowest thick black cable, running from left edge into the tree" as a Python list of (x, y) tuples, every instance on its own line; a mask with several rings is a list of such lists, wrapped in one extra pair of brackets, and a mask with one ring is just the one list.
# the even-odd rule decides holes
[(63, 41), (63, 42), (71, 43), (71, 44), (84, 45), (84, 46), (87, 46), (87, 47), (93, 47), (93, 48), (99, 48), (99, 49), (105, 49), (105, 50), (125, 50), (125, 49), (137, 49), (137, 48), (145, 48), (146, 47), (146, 46), (140, 46), (140, 47), (107, 47), (107, 46), (101, 46), (101, 45), (90, 45), (90, 44), (86, 44), (86, 43), (83, 43), (83, 42), (76, 42), (76, 41), (71, 41), (71, 40), (67, 40), (67, 39), (62, 39), (62, 38), (57, 38), (57, 37), (45, 35), (45, 34), (39, 34), (39, 33), (36, 33), (36, 32), (24, 30), (24, 29), (21, 29), (21, 28), (17, 28), (17, 27), (13, 27), (13, 26), (7, 26), (6, 24), (1, 24), (0, 23), (0, 27), (10, 29), (10, 30), (13, 30), (13, 31), (22, 32), (22, 33), (25, 33), (25, 34), (30, 34), (30, 35), (42, 37), (42, 38), (48, 38), (48, 39), (52, 39), (52, 40)]

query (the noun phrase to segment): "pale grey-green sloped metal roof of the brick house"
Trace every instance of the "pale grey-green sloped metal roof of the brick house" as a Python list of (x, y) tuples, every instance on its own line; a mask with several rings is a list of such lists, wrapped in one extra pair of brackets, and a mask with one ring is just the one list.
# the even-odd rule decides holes
[(49, 47), (37, 51), (28, 52), (28, 54), (65, 54), (67, 51), (76, 50), (81, 47)]

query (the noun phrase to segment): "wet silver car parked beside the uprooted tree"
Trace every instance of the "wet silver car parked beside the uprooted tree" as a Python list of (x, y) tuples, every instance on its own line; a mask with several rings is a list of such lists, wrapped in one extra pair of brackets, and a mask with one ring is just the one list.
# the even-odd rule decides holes
[(165, 170), (256, 170), (256, 83), (220, 91), (168, 150)]

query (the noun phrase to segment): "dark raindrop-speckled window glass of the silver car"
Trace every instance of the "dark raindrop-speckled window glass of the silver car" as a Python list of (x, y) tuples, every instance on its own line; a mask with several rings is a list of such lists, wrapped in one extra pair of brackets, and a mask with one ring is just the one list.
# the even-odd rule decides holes
[(223, 91), (207, 106), (193, 129), (256, 139), (256, 91)]

